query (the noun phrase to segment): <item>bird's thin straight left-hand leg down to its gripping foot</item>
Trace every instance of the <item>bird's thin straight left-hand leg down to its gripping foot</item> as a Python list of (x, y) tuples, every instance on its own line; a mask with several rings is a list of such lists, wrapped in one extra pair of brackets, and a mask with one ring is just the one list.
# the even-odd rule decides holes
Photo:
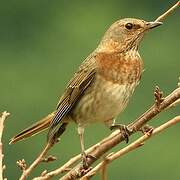
[(79, 134), (79, 138), (80, 138), (81, 156), (82, 156), (83, 168), (87, 169), (87, 167), (88, 167), (87, 155), (85, 153), (85, 148), (84, 148), (84, 127), (78, 126), (78, 134)]

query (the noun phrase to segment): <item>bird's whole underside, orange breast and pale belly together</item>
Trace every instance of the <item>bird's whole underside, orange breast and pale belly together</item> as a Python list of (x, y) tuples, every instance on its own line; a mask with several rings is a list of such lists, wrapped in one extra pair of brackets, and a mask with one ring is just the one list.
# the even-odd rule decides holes
[(73, 110), (77, 123), (108, 121), (124, 110), (142, 72), (140, 56), (132, 56), (96, 55), (97, 75)]

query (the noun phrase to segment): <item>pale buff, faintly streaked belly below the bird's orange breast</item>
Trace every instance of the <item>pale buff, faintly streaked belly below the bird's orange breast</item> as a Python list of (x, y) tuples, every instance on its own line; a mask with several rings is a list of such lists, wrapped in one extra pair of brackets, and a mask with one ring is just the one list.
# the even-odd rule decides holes
[(75, 105), (73, 120), (84, 125), (115, 118), (126, 107), (136, 84), (113, 83), (97, 76)]

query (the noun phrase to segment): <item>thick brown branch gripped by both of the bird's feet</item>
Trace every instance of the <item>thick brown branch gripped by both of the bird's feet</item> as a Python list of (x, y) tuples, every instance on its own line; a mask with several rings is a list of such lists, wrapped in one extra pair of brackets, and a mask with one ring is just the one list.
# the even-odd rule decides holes
[[(132, 129), (132, 134), (137, 132), (143, 125), (145, 125), (153, 117), (155, 117), (162, 110), (164, 110), (166, 107), (171, 105), (173, 102), (175, 102), (179, 98), (180, 98), (180, 88), (177, 88), (170, 95), (164, 98), (164, 101), (160, 104), (158, 109), (156, 105), (154, 104), (149, 110), (147, 110), (137, 120), (135, 120), (133, 123), (128, 125), (128, 127)], [(99, 159), (104, 153), (106, 153), (108, 150), (110, 150), (111, 148), (113, 148), (114, 146), (122, 142), (123, 140), (124, 140), (124, 137), (121, 135), (119, 130), (114, 131), (109, 136), (109, 140), (100, 144), (98, 151), (92, 152), (91, 155)], [(88, 165), (91, 166), (97, 159), (88, 158), (87, 159)], [(76, 167), (74, 167), (70, 172), (68, 172), (61, 179), (62, 180), (78, 179), (84, 175), (85, 174), (82, 173), (81, 164), (78, 164)]]

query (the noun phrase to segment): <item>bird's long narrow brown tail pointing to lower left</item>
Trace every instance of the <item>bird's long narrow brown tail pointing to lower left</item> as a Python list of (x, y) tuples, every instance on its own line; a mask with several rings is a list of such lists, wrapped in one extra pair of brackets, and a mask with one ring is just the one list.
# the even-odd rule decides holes
[(56, 111), (52, 112), (51, 114), (47, 115), (45, 118), (43, 118), (40, 121), (38, 121), (37, 123), (33, 124), (31, 127), (23, 130), (22, 132), (20, 132), (19, 134), (17, 134), (13, 138), (11, 138), (9, 144), (14, 144), (17, 141), (34, 136), (34, 135), (40, 133), (41, 131), (44, 131), (45, 129), (47, 129), (50, 126), (50, 123), (51, 123), (55, 113), (56, 113)]

